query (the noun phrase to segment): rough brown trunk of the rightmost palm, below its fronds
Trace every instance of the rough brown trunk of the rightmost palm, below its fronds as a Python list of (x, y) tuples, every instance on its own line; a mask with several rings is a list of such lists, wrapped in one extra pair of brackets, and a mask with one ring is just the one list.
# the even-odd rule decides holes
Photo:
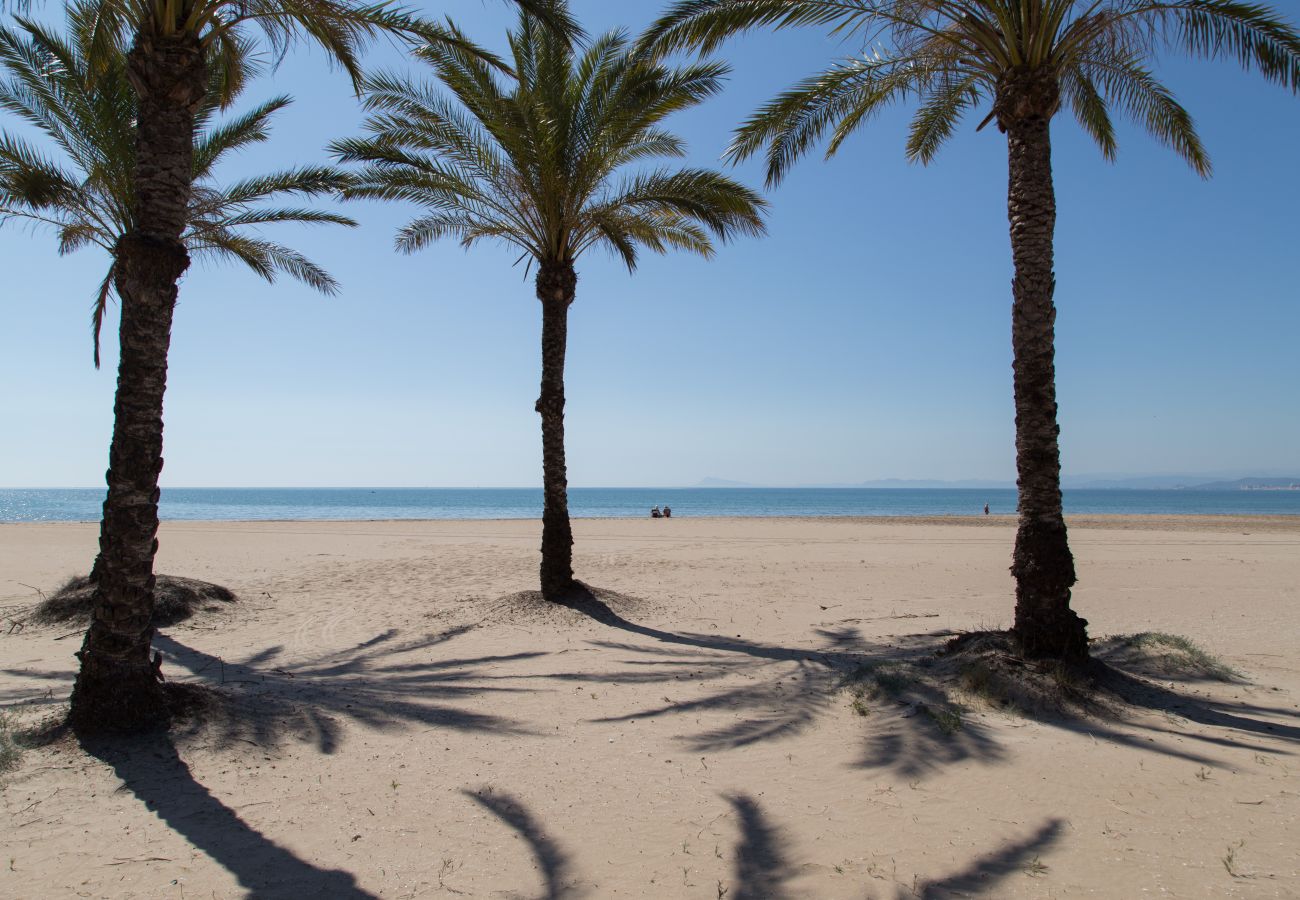
[(1088, 657), (1088, 623), (1070, 609), (1075, 572), (1061, 506), (1057, 442), (1050, 121), (1058, 98), (1052, 75), (1020, 72), (1004, 78), (997, 99), (998, 125), (1008, 139), (1008, 217), (1015, 263), (1011, 347), (1019, 525), (1011, 562), (1013, 632), (1028, 657), (1082, 662)]

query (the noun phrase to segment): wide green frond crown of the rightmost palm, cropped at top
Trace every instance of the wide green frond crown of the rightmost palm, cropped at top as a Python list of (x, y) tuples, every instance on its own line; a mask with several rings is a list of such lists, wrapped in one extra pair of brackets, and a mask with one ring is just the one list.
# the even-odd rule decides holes
[[(887, 48), (845, 59), (759, 109), (729, 150), (745, 159), (766, 147), (770, 182), (827, 138), (844, 139), (885, 105), (915, 99), (907, 156), (928, 163), (961, 117), (992, 101), (991, 118), (1037, 103), (1054, 114), (1069, 105), (1108, 160), (1117, 142), (1112, 113), (1127, 113), (1200, 174), (1210, 172), (1191, 116), (1156, 79), (1161, 48), (1230, 57), (1269, 81), (1300, 90), (1300, 40), (1266, 7), (1235, 0), (686, 0), (647, 40), (660, 49), (698, 46), (759, 26), (827, 26)], [(1013, 101), (1028, 73), (1043, 90)], [(1001, 121), (998, 122), (1002, 124)]]

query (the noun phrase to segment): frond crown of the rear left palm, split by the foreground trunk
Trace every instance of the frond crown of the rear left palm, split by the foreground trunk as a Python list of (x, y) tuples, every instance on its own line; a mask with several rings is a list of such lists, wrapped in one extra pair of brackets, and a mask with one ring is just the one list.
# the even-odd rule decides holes
[[(121, 53), (92, 73), (87, 59), (86, 9), (74, 9), (70, 34), (61, 38), (46, 26), (17, 20), (20, 29), (0, 27), (0, 108), (39, 130), (62, 161), (30, 142), (0, 134), (0, 221), (14, 217), (52, 226), (60, 254), (95, 245), (113, 258), (92, 313), (95, 364), (99, 332), (117, 273), (117, 242), (135, 222), (135, 94)], [(21, 30), (21, 33), (20, 33)], [(338, 284), (298, 251), (255, 233), (274, 222), (356, 225), (346, 216), (299, 207), (265, 205), (283, 196), (334, 195), (347, 176), (332, 166), (300, 166), (220, 185), (214, 169), (233, 152), (269, 137), (270, 117), (289, 105), (276, 98), (217, 124), (218, 92), (196, 112), (194, 192), (182, 241), (191, 255), (238, 260), (268, 281), (278, 273), (326, 294)]]

